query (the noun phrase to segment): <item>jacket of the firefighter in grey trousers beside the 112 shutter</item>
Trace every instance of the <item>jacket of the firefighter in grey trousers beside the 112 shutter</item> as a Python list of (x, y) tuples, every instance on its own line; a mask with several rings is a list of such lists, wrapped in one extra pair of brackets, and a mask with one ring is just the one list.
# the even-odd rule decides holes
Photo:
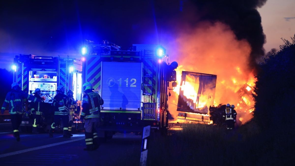
[(87, 89), (82, 100), (81, 118), (100, 118), (100, 105), (103, 104), (104, 100), (98, 93)]

